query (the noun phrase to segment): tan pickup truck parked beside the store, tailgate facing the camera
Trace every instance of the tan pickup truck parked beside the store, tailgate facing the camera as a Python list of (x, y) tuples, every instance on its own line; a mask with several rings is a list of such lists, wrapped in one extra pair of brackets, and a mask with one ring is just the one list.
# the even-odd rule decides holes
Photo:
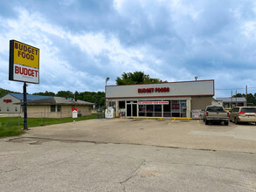
[(222, 106), (206, 106), (204, 111), (204, 122), (205, 125), (209, 125), (209, 122), (224, 122), (225, 126), (228, 126), (229, 113), (226, 112)]

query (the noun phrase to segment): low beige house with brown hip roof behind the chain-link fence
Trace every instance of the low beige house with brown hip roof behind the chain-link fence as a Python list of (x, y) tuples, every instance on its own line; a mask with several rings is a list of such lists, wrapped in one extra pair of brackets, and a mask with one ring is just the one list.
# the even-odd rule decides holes
[[(23, 105), (23, 103), (22, 103)], [(27, 102), (28, 117), (63, 118), (72, 117), (73, 108), (77, 108), (78, 116), (92, 114), (93, 103), (72, 98), (50, 97), (29, 100)], [(23, 114), (22, 114), (23, 115)]]

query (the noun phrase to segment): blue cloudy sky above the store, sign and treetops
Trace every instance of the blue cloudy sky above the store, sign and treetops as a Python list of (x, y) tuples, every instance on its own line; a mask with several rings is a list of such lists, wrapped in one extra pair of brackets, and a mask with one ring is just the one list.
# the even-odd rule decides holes
[(0, 87), (10, 39), (40, 49), (28, 93), (104, 91), (123, 72), (215, 79), (216, 97), (256, 93), (255, 0), (0, 0)]

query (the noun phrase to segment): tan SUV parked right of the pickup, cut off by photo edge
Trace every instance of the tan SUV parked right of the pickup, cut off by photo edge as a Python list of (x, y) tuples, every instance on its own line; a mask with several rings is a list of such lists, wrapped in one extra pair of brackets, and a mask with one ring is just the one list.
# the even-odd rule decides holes
[(230, 113), (230, 120), (235, 124), (239, 122), (256, 123), (256, 106), (236, 106)]

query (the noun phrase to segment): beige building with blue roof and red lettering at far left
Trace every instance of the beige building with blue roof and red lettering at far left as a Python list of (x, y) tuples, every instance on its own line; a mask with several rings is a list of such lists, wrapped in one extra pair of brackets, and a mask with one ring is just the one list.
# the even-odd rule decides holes
[[(27, 100), (45, 99), (50, 96), (27, 94)], [(21, 113), (22, 93), (8, 93), (0, 98), (0, 113)], [(19, 103), (19, 104), (17, 104)]]

